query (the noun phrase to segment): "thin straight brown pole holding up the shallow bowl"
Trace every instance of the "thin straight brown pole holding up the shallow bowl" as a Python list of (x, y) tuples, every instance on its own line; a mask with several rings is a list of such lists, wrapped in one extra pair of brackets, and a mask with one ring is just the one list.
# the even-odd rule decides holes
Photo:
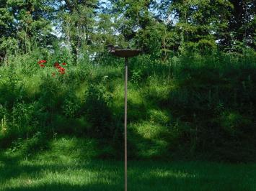
[(125, 191), (127, 191), (127, 80), (128, 58), (125, 57)]

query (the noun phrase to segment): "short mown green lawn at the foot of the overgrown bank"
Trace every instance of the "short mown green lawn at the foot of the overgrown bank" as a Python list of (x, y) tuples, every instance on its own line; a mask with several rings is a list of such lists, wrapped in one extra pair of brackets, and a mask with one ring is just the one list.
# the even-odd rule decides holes
[[(0, 190), (123, 190), (123, 162), (2, 153)], [(256, 164), (129, 161), (128, 190), (256, 190)]]

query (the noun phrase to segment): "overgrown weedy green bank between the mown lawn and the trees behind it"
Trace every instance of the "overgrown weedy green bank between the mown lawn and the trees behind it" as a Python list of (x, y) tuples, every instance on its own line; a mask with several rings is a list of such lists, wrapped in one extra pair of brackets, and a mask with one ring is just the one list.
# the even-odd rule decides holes
[[(131, 60), (129, 156), (253, 161), (254, 54), (190, 54), (168, 62), (141, 55)], [(116, 66), (81, 60), (68, 63), (65, 75), (52, 75), (53, 65), (40, 67), (35, 55), (26, 57), (31, 59), (20, 63), (14, 57), (0, 69), (1, 147), (23, 139), (30, 151), (31, 144), (47, 149), (40, 141), (71, 135), (97, 140), (99, 157), (120, 156), (122, 60)]]

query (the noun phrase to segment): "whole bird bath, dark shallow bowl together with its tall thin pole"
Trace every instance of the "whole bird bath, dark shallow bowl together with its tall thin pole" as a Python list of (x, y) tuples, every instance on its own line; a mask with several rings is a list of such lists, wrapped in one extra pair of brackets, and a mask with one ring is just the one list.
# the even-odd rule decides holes
[(128, 81), (128, 57), (135, 57), (141, 50), (138, 49), (120, 49), (113, 45), (107, 45), (109, 52), (117, 57), (125, 58), (125, 191), (127, 191), (127, 81)]

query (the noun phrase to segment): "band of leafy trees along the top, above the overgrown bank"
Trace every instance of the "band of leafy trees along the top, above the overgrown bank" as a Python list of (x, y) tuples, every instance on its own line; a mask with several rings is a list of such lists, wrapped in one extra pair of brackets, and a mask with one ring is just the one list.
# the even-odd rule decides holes
[[(1, 0), (0, 47), (56, 41), (53, 25), (77, 59), (81, 50), (119, 43), (154, 55), (183, 50), (241, 52), (255, 49), (255, 1)], [(89, 48), (91, 47), (91, 48)]]

